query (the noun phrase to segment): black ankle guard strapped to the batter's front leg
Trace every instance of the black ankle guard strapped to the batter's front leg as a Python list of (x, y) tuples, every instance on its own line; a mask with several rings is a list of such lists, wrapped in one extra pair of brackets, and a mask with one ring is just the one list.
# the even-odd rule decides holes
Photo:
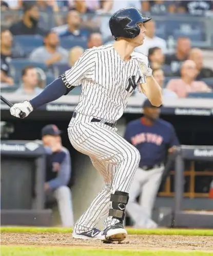
[(121, 221), (124, 220), (125, 217), (125, 209), (126, 204), (129, 200), (129, 193), (121, 192), (121, 191), (115, 191), (114, 194), (111, 194), (110, 201), (112, 209), (109, 210), (109, 216), (112, 216), (113, 218), (117, 218)]

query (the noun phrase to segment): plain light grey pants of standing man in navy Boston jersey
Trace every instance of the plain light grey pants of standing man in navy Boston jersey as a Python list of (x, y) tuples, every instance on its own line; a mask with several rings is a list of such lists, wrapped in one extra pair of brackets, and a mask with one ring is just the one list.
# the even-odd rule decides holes
[[(138, 168), (129, 191), (126, 211), (133, 219), (135, 227), (152, 228), (156, 226), (151, 220), (154, 201), (158, 193), (164, 166), (151, 170)], [(136, 198), (140, 195), (140, 202)]]

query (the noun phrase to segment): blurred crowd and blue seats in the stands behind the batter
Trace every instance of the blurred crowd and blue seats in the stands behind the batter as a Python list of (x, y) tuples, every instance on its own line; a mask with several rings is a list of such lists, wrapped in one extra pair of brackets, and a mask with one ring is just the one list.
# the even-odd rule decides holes
[(135, 50), (164, 96), (213, 97), (213, 1), (1, 1), (1, 90), (40, 93), (85, 49), (112, 43), (109, 17), (129, 6), (152, 16)]

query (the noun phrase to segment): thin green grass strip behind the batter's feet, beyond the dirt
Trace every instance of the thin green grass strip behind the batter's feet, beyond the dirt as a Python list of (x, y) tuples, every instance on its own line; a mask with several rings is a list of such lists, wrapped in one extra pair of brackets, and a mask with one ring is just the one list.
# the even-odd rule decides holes
[[(156, 234), (156, 235), (212, 235), (213, 230), (207, 229), (131, 229), (127, 228), (128, 234)], [(1, 232), (52, 232), (52, 233), (70, 233), (70, 228), (43, 228), (43, 227), (1, 227)]]

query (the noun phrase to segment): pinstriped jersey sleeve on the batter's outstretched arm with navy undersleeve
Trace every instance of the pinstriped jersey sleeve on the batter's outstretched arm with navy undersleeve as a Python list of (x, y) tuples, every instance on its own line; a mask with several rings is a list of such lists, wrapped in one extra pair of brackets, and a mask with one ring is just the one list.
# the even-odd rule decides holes
[(81, 80), (85, 78), (86, 73), (94, 67), (96, 59), (96, 50), (85, 50), (84, 54), (75, 62), (71, 69), (61, 75), (66, 88), (70, 91), (73, 87), (79, 86)]

